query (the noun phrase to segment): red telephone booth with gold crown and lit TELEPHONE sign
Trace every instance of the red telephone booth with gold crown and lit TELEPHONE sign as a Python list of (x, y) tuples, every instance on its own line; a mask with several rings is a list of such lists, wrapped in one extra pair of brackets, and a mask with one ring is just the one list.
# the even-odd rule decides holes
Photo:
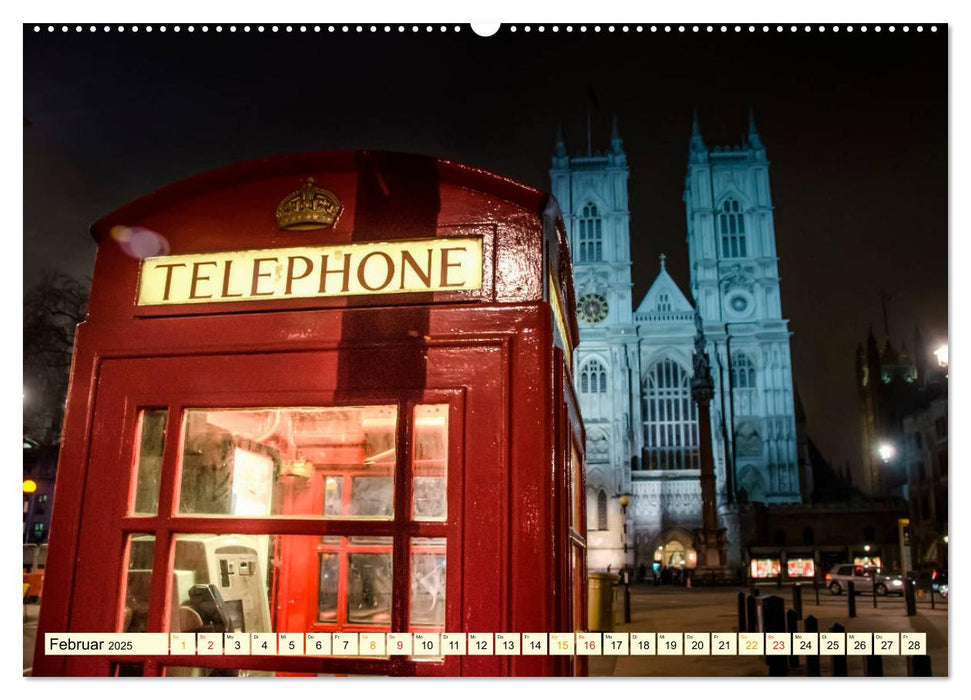
[(570, 257), (548, 195), (377, 152), (97, 222), (35, 675), (570, 675), (563, 656), (48, 656), (47, 632), (585, 625)]

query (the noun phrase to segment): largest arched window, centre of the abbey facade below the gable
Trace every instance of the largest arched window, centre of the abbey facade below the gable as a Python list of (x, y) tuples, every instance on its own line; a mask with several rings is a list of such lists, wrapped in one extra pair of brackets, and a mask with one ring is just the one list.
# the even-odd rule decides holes
[(698, 469), (698, 407), (688, 372), (674, 360), (658, 362), (643, 401), (644, 469)]

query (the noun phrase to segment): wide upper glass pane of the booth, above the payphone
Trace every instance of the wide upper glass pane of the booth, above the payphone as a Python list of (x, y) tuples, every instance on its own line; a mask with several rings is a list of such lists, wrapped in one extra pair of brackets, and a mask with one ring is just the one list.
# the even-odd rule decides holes
[(390, 519), (397, 420), (396, 406), (188, 410), (179, 512)]

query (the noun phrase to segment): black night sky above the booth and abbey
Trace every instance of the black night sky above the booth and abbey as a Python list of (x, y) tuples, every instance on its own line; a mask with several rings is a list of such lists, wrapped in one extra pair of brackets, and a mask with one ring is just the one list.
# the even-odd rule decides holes
[[(115, 26), (115, 25), (113, 25)], [(255, 27), (255, 25), (254, 25)], [(24, 34), (24, 285), (90, 275), (88, 226), (175, 180), (323, 149), (425, 153), (549, 189), (556, 125), (594, 149), (616, 114), (630, 166), (634, 306), (657, 256), (688, 289), (691, 111), (709, 146), (749, 106), (771, 161), (783, 314), (810, 436), (859, 462), (854, 352), (872, 324), (947, 338), (946, 28), (475, 36), (308, 28)], [(395, 26), (395, 30), (397, 26)], [(746, 27), (747, 29), (747, 27)]]

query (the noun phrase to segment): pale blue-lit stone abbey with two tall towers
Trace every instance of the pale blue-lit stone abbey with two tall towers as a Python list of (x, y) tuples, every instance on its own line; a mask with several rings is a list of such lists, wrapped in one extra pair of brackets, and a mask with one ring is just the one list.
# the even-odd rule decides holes
[[(751, 113), (741, 144), (713, 148), (695, 115), (684, 185), (690, 296), (662, 255), (647, 294), (632, 298), (629, 176), (616, 120), (606, 152), (570, 155), (557, 135), (550, 180), (570, 239), (579, 315), (587, 565), (695, 567), (700, 441), (710, 440), (727, 564), (737, 567), (738, 509), (800, 502), (805, 489), (766, 149)], [(715, 383), (709, 435), (699, 434), (691, 398), (696, 313)]]

